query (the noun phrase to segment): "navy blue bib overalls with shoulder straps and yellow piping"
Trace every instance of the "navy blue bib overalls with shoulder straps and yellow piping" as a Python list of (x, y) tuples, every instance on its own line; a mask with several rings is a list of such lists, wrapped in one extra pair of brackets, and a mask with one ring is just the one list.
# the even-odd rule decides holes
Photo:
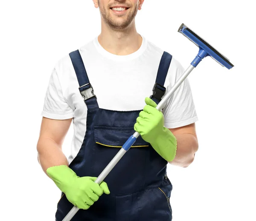
[[(99, 108), (79, 50), (69, 55), (87, 106), (84, 141), (70, 168), (79, 177), (98, 177), (134, 134), (134, 124), (141, 110)], [(164, 95), (163, 85), (171, 60), (172, 55), (163, 52), (151, 95), (156, 103)], [(167, 161), (139, 136), (104, 180), (110, 195), (103, 194), (88, 210), (79, 210), (72, 221), (171, 221), (169, 198), (172, 184), (166, 175), (166, 165)], [(73, 204), (62, 193), (56, 221), (62, 221), (72, 207)]]

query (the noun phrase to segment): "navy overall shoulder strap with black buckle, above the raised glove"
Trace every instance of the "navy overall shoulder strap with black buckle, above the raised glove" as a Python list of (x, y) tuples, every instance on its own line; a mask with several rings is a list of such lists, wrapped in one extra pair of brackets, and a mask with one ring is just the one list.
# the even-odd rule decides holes
[(164, 87), (164, 83), (166, 80), (166, 75), (169, 70), (169, 66), (172, 61), (172, 55), (170, 55), (168, 52), (163, 52), (163, 55), (160, 60), (160, 64), (158, 67), (157, 71), (157, 78), (156, 78), (156, 83), (154, 84), (153, 87), (153, 95), (150, 96), (154, 102), (157, 104), (161, 101), (166, 88)]

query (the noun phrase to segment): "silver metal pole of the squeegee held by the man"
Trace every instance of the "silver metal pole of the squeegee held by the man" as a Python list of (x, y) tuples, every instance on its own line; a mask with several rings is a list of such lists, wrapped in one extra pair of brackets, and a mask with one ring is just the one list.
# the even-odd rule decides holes
[[(192, 72), (192, 70), (195, 67), (190, 65), (186, 71), (180, 76), (180, 78), (176, 81), (176, 83), (172, 86), (172, 89), (163, 96), (162, 100), (158, 103), (158, 105), (156, 106), (157, 110), (160, 110), (163, 105), (165, 104), (165, 102), (172, 96), (172, 94), (176, 91), (176, 89), (180, 86), (180, 84), (186, 79), (186, 77), (190, 74), (190, 72)], [(140, 134), (138, 132), (135, 132), (132, 135), (134, 138), (138, 138), (140, 136)], [(135, 141), (134, 141), (135, 142)], [(132, 145), (132, 144), (131, 144)], [(131, 146), (130, 146), (131, 147)], [(123, 148), (121, 148), (119, 150), (119, 152), (114, 156), (114, 158), (110, 161), (110, 163), (108, 164), (108, 166), (105, 167), (105, 169), (101, 172), (101, 174), (98, 176), (98, 178), (96, 179), (95, 183), (96, 184), (100, 184), (105, 178), (106, 176), (111, 172), (111, 170), (113, 169), (114, 166), (116, 166), (116, 164), (118, 163), (118, 161), (122, 158), (123, 155), (125, 155), (125, 153), (128, 150), (125, 150)], [(65, 216), (65, 218), (62, 221), (70, 221), (73, 216), (76, 214), (76, 212), (78, 212), (79, 208), (78, 207), (73, 207), (70, 212)]]

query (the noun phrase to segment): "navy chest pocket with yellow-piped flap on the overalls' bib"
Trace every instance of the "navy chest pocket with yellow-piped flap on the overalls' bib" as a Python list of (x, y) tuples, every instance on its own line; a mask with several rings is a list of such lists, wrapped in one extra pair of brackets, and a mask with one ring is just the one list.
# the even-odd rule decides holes
[[(117, 154), (127, 139), (134, 134), (133, 127), (94, 126), (94, 175), (99, 175)], [(114, 166), (104, 181), (111, 194), (128, 194), (143, 189), (148, 149), (151, 146), (141, 136)]]

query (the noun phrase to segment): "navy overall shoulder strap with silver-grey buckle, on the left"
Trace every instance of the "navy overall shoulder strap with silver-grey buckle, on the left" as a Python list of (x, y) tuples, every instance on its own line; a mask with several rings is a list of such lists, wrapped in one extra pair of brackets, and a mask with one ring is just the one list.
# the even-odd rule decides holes
[(69, 55), (76, 72), (76, 77), (79, 83), (79, 91), (84, 97), (84, 102), (86, 103), (87, 108), (91, 109), (99, 107), (96, 100), (96, 95), (93, 94), (93, 87), (90, 84), (79, 50), (70, 52)]

